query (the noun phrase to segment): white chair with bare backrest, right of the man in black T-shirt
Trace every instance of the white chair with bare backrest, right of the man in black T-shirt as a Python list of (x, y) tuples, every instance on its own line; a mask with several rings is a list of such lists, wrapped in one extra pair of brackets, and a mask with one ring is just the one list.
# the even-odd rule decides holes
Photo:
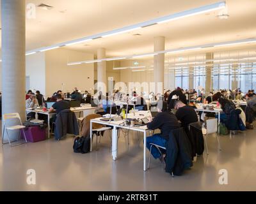
[(204, 142), (205, 142), (205, 147), (206, 147), (206, 150), (207, 150), (207, 154), (209, 154), (209, 152), (208, 152), (206, 137), (207, 137), (207, 135), (212, 134), (212, 133), (215, 133), (216, 139), (217, 139), (217, 142), (218, 142), (218, 147), (221, 150), (220, 142), (219, 142), (219, 138), (218, 138), (218, 134), (217, 134), (218, 133), (218, 119), (206, 120), (206, 129), (203, 127), (202, 128), (202, 133), (204, 135)]

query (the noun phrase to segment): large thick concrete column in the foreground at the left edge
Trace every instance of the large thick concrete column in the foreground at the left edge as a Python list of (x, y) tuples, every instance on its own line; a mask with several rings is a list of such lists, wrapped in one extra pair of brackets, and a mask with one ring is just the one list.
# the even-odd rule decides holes
[[(26, 118), (26, 4), (2, 0), (2, 110)], [(2, 126), (3, 127), (3, 126)], [(11, 139), (17, 135), (10, 135)], [(7, 137), (6, 137), (7, 138)]]

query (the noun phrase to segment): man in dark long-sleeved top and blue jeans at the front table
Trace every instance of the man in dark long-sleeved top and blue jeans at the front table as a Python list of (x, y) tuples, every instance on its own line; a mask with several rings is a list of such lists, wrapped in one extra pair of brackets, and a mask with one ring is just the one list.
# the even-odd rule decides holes
[[(172, 129), (180, 128), (180, 124), (175, 117), (175, 115), (171, 112), (167, 112), (167, 105), (163, 103), (163, 101), (157, 102), (157, 115), (154, 119), (149, 119), (150, 122), (147, 124), (148, 129), (160, 129), (161, 133), (155, 134), (153, 136), (149, 136), (147, 138), (147, 148), (150, 150), (150, 143), (154, 143), (161, 147), (166, 147), (166, 142), (169, 140), (169, 133)], [(155, 159), (160, 159), (161, 162), (164, 162), (164, 158), (166, 157), (165, 152), (163, 152), (162, 156), (156, 147), (152, 146), (151, 150), (152, 156)]]

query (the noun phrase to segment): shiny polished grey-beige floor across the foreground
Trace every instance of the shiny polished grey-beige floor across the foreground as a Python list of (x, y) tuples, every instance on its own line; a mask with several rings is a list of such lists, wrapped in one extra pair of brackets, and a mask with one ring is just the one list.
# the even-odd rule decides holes
[[(0, 149), (1, 191), (256, 191), (256, 129), (230, 138), (209, 136), (209, 156), (197, 157), (193, 168), (172, 178), (157, 160), (143, 171), (142, 135), (124, 135), (118, 142), (118, 160), (113, 161), (106, 134), (99, 150), (73, 152), (72, 136), (56, 142), (28, 143)], [(95, 143), (94, 143), (95, 149)], [(148, 152), (147, 152), (148, 153)], [(36, 172), (36, 184), (28, 185), (27, 170)], [(219, 170), (228, 172), (228, 184), (219, 184)]]

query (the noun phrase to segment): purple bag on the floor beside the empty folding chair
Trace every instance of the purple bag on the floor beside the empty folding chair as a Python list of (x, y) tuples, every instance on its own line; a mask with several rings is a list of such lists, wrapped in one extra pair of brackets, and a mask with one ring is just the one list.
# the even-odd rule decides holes
[[(20, 132), (22, 138), (24, 138), (23, 131), (20, 130)], [(29, 142), (40, 142), (45, 140), (45, 128), (41, 128), (40, 126), (30, 126), (28, 128), (24, 128), (24, 132)]]

